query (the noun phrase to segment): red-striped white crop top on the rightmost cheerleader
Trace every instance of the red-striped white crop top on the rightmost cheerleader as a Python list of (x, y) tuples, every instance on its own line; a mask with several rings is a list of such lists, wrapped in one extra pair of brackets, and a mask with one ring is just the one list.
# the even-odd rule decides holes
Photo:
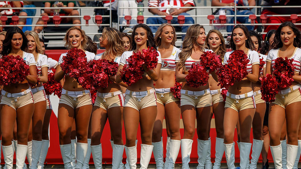
[[(271, 62), (272, 71), (274, 71), (275, 60), (278, 57), (280, 57), (279, 49), (271, 49), (267, 54), (267, 62)], [(300, 73), (301, 49), (296, 47), (293, 55), (288, 59), (293, 59), (295, 72)]]

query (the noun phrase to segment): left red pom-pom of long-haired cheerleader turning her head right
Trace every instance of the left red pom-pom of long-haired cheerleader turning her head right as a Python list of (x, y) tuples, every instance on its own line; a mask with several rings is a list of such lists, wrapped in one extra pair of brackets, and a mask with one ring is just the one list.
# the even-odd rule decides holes
[(186, 76), (187, 85), (189, 87), (199, 87), (207, 85), (209, 75), (204, 66), (199, 64), (192, 65), (188, 70), (188, 75)]

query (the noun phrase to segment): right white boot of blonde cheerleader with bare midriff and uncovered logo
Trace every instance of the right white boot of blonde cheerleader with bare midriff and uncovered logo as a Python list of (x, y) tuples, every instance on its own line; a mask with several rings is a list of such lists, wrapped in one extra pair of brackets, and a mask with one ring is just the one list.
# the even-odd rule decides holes
[[(175, 163), (180, 151), (181, 141), (180, 140), (169, 140), (169, 158), (166, 160), (168, 163), (164, 166), (165, 169), (175, 168)], [(167, 153), (166, 153), (167, 154)], [(165, 163), (166, 163), (165, 161)]]

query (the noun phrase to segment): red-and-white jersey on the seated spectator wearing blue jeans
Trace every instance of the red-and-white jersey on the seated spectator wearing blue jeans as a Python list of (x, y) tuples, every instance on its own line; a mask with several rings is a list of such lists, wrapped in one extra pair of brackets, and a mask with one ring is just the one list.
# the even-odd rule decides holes
[(183, 7), (186, 4), (190, 4), (191, 6), (194, 5), (193, 0), (149, 0), (148, 6), (149, 7), (159, 7), (159, 11), (167, 12), (166, 8), (177, 8)]

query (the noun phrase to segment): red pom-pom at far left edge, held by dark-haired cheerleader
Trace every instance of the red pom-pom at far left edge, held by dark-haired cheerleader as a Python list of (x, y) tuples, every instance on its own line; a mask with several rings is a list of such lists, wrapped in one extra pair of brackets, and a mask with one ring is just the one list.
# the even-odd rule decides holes
[(2, 56), (0, 65), (0, 85), (22, 82), (29, 75), (29, 65), (20, 56)]

